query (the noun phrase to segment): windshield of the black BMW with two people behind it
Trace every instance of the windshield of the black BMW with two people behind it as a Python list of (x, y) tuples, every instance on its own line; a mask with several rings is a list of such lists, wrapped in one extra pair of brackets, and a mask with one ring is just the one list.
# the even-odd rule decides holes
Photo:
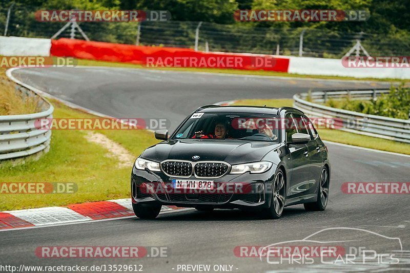
[(240, 139), (279, 142), (279, 116), (255, 113), (195, 113), (173, 139)]

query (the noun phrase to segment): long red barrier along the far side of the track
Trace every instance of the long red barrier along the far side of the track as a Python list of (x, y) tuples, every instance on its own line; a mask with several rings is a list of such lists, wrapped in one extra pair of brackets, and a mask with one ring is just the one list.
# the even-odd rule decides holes
[[(166, 58), (183, 59), (196, 58), (202, 62), (189, 61), (182, 67), (209, 67), (206, 64), (213, 64), (214, 68), (233, 68), (243, 70), (268, 70), (288, 72), (289, 58), (277, 58), (272, 55), (256, 55), (256, 54), (241, 54), (241, 53), (222, 53), (222, 52), (202, 52), (194, 51), (193, 49), (185, 48), (169, 48), (169, 47), (147, 47), (147, 46), (133, 46), (124, 44), (104, 43), (99, 41), (84, 41), (76, 39), (60, 38), (58, 40), (51, 40), (51, 55), (61, 57), (76, 57), (80, 59), (93, 59), (103, 61), (116, 62), (131, 62), (133, 64), (147, 65), (150, 60), (156, 60), (154, 63), (158, 64), (157, 60), (164, 60)], [(227, 60), (235, 58), (238, 62), (232, 62), (228, 67), (226, 62), (215, 62), (215, 59)], [(266, 65), (256, 65), (256, 62), (263, 62), (269, 60)], [(173, 65), (167, 66), (177, 66)], [(223, 63), (223, 64), (222, 64)]]

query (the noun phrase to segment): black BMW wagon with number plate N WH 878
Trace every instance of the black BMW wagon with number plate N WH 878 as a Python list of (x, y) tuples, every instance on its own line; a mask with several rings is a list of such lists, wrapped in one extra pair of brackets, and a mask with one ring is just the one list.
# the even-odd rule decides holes
[(326, 207), (327, 148), (300, 110), (203, 106), (171, 135), (158, 130), (155, 137), (163, 141), (135, 160), (131, 174), (139, 218), (155, 218), (162, 205), (239, 208), (271, 219), (289, 205)]

